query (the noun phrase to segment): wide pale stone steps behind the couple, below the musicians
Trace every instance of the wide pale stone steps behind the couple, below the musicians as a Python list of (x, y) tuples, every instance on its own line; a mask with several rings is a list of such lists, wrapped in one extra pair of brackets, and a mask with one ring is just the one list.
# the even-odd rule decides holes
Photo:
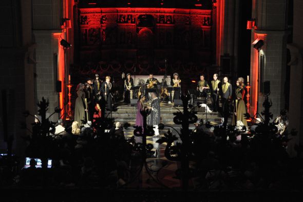
[[(149, 106), (148, 103), (145, 103), (146, 106)], [(130, 106), (130, 104), (123, 104), (123, 103), (116, 103), (117, 110), (113, 111), (112, 113), (106, 114), (107, 117), (115, 119), (115, 122), (121, 122), (123, 124), (128, 123), (133, 125), (136, 123), (136, 114), (137, 114), (137, 107)], [(174, 112), (178, 112), (180, 110), (183, 112), (183, 107), (174, 107), (174, 103), (161, 103), (160, 104), (161, 110), (161, 119), (163, 124), (174, 125), (173, 118)], [(198, 119), (205, 119), (207, 116), (207, 121), (220, 123), (221, 115), (218, 112), (197, 112)]]

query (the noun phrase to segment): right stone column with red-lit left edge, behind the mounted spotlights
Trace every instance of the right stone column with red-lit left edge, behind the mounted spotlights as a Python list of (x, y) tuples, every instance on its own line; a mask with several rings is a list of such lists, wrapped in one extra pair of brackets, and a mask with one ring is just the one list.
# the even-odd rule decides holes
[[(273, 102), (271, 112), (274, 117), (279, 115), (280, 110), (285, 108), (285, 98), (283, 96), (286, 80), (286, 55), (287, 55), (287, 2), (277, 1), (253, 1), (253, 15), (256, 17), (256, 26), (252, 32), (252, 43), (255, 39), (263, 39), (264, 45), (260, 50), (260, 55), (264, 56), (263, 72), (260, 72), (257, 52), (251, 49), (251, 83), (252, 83), (252, 110), (256, 113), (256, 102), (259, 98), (260, 113), (263, 110), (262, 103), (264, 96), (257, 87), (263, 82), (270, 81), (270, 98)], [(260, 75), (260, 73), (262, 75)], [(258, 81), (258, 74), (260, 79)]]

